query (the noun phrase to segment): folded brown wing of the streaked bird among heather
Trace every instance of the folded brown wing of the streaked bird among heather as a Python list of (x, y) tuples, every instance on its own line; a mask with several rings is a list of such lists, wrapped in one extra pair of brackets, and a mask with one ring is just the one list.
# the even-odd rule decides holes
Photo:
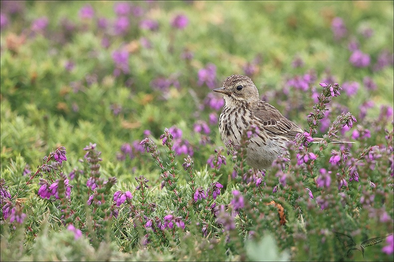
[(297, 134), (303, 133), (301, 128), (284, 117), (278, 109), (264, 101), (260, 101), (253, 115), (260, 123), (259, 128), (264, 128), (271, 135), (281, 135), (293, 140)]

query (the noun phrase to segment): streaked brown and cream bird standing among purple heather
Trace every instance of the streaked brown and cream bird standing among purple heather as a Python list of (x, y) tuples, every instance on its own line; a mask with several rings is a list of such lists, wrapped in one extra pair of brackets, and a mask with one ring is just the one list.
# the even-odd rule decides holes
[(247, 76), (231, 75), (223, 81), (222, 87), (212, 91), (221, 93), (225, 102), (218, 125), (224, 144), (231, 141), (239, 145), (243, 130), (251, 125), (259, 128), (246, 150), (246, 162), (252, 168), (270, 168), (286, 151), (286, 143), (304, 132), (273, 105), (261, 100), (256, 85)]

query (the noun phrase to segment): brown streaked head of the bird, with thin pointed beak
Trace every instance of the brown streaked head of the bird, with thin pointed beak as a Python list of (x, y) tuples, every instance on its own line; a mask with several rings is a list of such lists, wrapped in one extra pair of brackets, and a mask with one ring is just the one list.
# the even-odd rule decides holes
[(227, 105), (259, 101), (259, 91), (253, 81), (242, 75), (231, 75), (223, 81), (223, 86), (213, 91), (222, 93)]

